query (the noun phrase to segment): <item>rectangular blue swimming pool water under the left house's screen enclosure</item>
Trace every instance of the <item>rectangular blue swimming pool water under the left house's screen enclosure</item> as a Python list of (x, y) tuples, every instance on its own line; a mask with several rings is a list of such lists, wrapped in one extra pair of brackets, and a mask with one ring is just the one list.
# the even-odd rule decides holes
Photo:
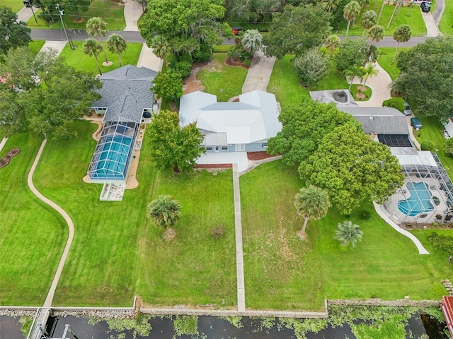
[(96, 177), (125, 179), (125, 167), (129, 160), (132, 138), (108, 136), (103, 144), (96, 165)]

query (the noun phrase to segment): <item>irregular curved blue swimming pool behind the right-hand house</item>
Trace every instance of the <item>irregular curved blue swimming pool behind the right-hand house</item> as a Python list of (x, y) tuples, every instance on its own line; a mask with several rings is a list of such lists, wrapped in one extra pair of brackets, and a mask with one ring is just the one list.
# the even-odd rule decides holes
[(414, 217), (419, 213), (434, 210), (431, 203), (431, 192), (424, 182), (408, 182), (406, 184), (411, 196), (407, 200), (398, 201), (398, 209), (406, 215)]

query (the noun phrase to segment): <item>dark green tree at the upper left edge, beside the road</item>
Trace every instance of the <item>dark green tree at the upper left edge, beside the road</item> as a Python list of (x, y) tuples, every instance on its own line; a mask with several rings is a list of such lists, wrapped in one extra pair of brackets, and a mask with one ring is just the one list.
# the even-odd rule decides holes
[(11, 8), (0, 6), (0, 61), (9, 49), (27, 46), (31, 41), (30, 32), (27, 23), (18, 21)]

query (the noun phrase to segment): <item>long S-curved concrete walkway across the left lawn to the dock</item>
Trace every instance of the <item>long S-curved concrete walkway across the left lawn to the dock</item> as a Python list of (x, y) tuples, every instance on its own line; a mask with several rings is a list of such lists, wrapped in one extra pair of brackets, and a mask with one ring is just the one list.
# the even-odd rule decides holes
[(52, 207), (54, 210), (56, 210), (62, 217), (64, 218), (64, 221), (67, 222), (68, 228), (69, 228), (69, 236), (66, 242), (66, 246), (64, 246), (64, 251), (62, 254), (62, 257), (59, 260), (59, 264), (57, 267), (57, 272), (55, 272), (54, 280), (52, 280), (52, 285), (50, 286), (49, 293), (47, 294), (47, 297), (45, 299), (43, 307), (51, 307), (52, 306), (52, 300), (55, 295), (55, 290), (57, 289), (57, 284), (60, 275), (62, 275), (62, 270), (64, 267), (64, 262), (66, 261), (66, 258), (69, 254), (69, 249), (71, 248), (72, 244), (72, 239), (74, 238), (74, 223), (71, 220), (71, 217), (69, 217), (68, 213), (64, 211), (61, 207), (59, 207), (56, 203), (51, 201), (50, 199), (46, 198), (40, 192), (38, 189), (36, 189), (35, 185), (33, 184), (33, 173), (35, 173), (36, 166), (38, 165), (38, 162), (40, 161), (40, 157), (42, 154), (42, 150), (44, 150), (44, 146), (47, 143), (47, 139), (42, 141), (41, 147), (38, 150), (38, 154), (35, 157), (35, 161), (33, 162), (33, 165), (30, 168), (30, 172), (28, 173), (27, 177), (27, 182), (28, 182), (28, 187), (30, 187), (30, 190), (37, 196), (40, 201), (43, 201), (44, 203), (47, 203), (50, 207)]

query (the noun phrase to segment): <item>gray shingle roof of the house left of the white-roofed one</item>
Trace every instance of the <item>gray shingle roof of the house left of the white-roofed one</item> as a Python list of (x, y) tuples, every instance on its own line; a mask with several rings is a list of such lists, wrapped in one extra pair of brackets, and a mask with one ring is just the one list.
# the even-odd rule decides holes
[(122, 118), (140, 123), (143, 109), (151, 109), (153, 105), (150, 88), (156, 75), (156, 71), (132, 65), (105, 73), (101, 76), (103, 87), (99, 90), (102, 98), (93, 102), (92, 107), (108, 107), (103, 121)]

